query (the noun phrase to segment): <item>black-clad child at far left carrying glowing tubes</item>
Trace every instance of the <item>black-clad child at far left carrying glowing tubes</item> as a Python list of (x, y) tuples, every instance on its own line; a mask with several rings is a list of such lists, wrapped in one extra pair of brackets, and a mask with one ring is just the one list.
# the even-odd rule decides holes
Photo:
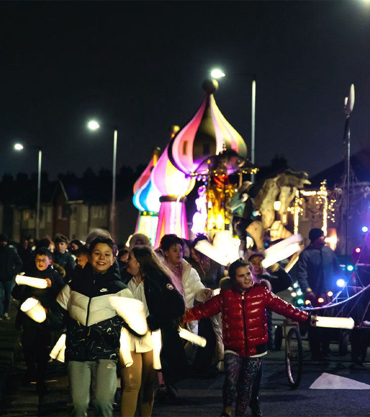
[[(36, 258), (33, 267), (27, 269), (25, 274), (30, 277), (45, 279), (46, 288), (35, 288), (28, 285), (15, 284), (12, 295), (22, 304), (27, 298), (34, 297), (44, 307), (55, 300), (60, 289), (64, 286), (61, 276), (52, 268), (52, 254), (46, 248), (36, 250)], [(16, 327), (22, 326), (22, 347), (24, 361), (27, 366), (23, 376), (23, 384), (28, 385), (33, 377), (37, 365), (37, 386), (38, 394), (46, 392), (45, 375), (49, 360), (49, 352), (52, 344), (52, 332), (43, 324), (37, 323), (26, 316), (21, 310), (18, 311)]]

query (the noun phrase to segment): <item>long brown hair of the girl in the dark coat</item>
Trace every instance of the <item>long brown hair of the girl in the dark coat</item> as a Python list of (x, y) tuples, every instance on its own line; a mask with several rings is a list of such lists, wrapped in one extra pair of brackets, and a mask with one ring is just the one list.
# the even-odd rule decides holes
[(171, 271), (164, 265), (159, 256), (147, 246), (134, 246), (131, 249), (135, 259), (139, 262), (139, 272), (142, 277), (154, 278), (158, 275), (164, 275), (171, 281)]

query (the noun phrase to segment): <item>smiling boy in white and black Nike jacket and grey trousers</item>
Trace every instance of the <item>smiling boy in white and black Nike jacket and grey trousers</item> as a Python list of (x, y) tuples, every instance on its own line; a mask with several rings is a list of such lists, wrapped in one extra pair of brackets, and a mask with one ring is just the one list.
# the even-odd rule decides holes
[(132, 298), (114, 265), (116, 252), (112, 239), (96, 237), (90, 244), (89, 262), (83, 269), (76, 268), (58, 294), (56, 306), (47, 311), (50, 325), (64, 322), (67, 327), (70, 416), (87, 416), (90, 387), (95, 415), (113, 415), (121, 327), (126, 324), (111, 307), (109, 297)]

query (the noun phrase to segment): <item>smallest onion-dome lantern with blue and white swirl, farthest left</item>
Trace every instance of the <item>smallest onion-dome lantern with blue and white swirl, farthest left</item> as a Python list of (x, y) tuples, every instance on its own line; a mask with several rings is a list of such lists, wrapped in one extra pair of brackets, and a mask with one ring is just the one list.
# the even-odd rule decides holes
[(140, 177), (134, 184), (134, 206), (139, 209), (138, 221), (135, 233), (143, 233), (151, 240), (154, 245), (155, 234), (158, 225), (158, 211), (160, 207), (159, 197), (161, 193), (150, 180), (150, 174), (158, 161), (160, 148), (153, 150), (153, 156), (144, 169)]

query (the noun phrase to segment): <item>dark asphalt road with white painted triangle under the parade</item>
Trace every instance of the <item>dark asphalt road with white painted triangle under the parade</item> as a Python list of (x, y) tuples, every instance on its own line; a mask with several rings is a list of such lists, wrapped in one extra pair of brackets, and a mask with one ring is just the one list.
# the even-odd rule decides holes
[[(370, 416), (370, 349), (367, 362), (358, 366), (350, 362), (350, 354), (338, 356), (338, 345), (330, 347), (332, 354), (327, 362), (313, 363), (307, 342), (304, 342), (303, 377), (298, 389), (293, 391), (287, 383), (283, 349), (269, 352), (264, 359), (260, 392), (263, 416)], [(50, 364), (49, 392), (40, 401), (35, 384), (26, 388), (20, 385), (24, 368), (20, 357), (9, 377), (0, 415), (68, 416), (65, 366)], [(220, 416), (223, 379), (224, 374), (220, 372), (214, 378), (191, 378), (178, 383), (176, 398), (155, 401), (152, 416)], [(317, 389), (311, 387), (314, 383)], [(114, 416), (119, 415), (117, 407)], [(249, 408), (245, 415), (251, 415)], [(89, 411), (89, 416), (93, 416), (93, 410)]]

